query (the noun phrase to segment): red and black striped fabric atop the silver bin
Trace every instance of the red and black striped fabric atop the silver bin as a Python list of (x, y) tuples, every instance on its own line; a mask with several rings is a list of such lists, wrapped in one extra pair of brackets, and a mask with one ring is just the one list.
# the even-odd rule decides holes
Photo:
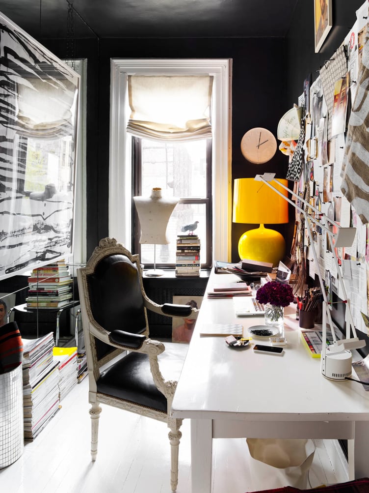
[(23, 342), (17, 322), (0, 327), (0, 373), (7, 373), (22, 364)]

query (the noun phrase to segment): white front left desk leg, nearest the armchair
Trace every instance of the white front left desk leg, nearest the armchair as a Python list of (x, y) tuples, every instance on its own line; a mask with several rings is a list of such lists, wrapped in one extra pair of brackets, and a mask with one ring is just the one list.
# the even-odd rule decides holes
[(210, 493), (212, 481), (212, 420), (191, 420), (192, 493)]

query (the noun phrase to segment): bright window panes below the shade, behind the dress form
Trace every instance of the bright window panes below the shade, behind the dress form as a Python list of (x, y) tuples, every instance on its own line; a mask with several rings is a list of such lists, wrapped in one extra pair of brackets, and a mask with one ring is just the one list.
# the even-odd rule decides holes
[[(198, 221), (201, 265), (211, 266), (212, 248), (212, 141), (154, 141), (133, 137), (133, 193), (149, 197), (153, 186), (166, 197), (178, 197), (167, 227), (168, 245), (157, 245), (155, 261), (174, 267), (176, 237), (181, 228)], [(133, 250), (144, 265), (154, 263), (154, 245), (139, 244), (137, 212), (132, 214)]]

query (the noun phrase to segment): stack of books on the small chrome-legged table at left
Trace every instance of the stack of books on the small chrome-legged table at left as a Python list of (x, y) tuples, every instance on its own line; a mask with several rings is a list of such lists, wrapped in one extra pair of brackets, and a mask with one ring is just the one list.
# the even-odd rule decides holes
[(28, 284), (28, 308), (62, 308), (73, 296), (72, 278), (64, 260), (33, 269)]

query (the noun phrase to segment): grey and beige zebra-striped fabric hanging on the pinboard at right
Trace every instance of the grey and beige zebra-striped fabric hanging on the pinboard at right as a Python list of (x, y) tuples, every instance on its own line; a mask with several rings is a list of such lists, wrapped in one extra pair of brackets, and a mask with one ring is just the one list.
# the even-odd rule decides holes
[(348, 122), (342, 164), (341, 191), (363, 224), (369, 222), (369, 33), (358, 76), (358, 87)]

